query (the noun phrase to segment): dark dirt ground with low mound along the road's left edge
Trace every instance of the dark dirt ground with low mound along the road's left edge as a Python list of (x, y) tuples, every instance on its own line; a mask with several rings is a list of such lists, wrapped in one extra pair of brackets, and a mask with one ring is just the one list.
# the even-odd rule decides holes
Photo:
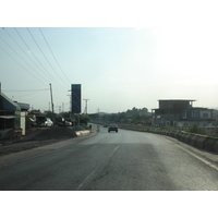
[(27, 135), (16, 141), (0, 141), (0, 156), (19, 153), (59, 141), (76, 137), (74, 130), (66, 126), (33, 129)]

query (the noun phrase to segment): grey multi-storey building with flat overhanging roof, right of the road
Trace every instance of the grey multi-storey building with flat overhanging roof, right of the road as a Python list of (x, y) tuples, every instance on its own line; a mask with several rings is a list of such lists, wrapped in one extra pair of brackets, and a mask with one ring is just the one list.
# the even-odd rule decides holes
[(156, 126), (211, 126), (213, 109), (193, 107), (195, 100), (159, 100), (159, 108), (152, 109)]

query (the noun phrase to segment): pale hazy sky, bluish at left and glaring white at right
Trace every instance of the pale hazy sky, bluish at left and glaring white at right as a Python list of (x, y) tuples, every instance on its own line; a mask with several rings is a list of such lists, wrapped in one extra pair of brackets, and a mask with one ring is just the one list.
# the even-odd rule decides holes
[(71, 84), (82, 84), (88, 113), (150, 111), (159, 99), (218, 107), (218, 27), (4, 27), (0, 82), (8, 97), (43, 111), (50, 83), (56, 112), (69, 111)]

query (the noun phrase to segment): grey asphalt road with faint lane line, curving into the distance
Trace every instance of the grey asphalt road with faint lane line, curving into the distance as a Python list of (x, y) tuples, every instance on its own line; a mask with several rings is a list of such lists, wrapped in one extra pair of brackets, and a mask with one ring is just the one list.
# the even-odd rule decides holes
[(170, 137), (119, 130), (0, 168), (7, 191), (218, 190), (218, 166)]

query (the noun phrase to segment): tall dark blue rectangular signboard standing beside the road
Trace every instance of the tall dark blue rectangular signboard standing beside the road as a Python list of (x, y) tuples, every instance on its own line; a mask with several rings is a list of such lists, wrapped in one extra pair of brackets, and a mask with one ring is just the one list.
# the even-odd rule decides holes
[(71, 112), (81, 113), (81, 84), (71, 84)]

